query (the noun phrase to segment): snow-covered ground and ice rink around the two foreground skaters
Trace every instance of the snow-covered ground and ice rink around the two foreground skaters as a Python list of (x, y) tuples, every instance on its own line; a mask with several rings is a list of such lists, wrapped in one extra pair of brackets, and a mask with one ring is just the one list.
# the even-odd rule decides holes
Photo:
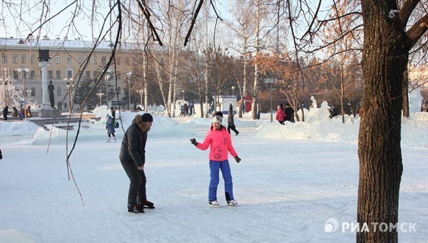
[[(121, 112), (121, 125), (133, 116)], [(243, 161), (230, 164), (239, 205), (225, 206), (220, 182), (220, 208), (208, 207), (208, 151), (189, 141), (202, 142), (210, 119), (155, 116), (145, 171), (156, 209), (144, 214), (127, 212), (122, 126), (116, 143), (105, 142), (104, 118), (81, 129), (70, 157), (75, 184), (66, 155), (76, 131), (0, 122), (0, 242), (19, 242), (19, 234), (34, 242), (355, 242), (348, 227), (356, 224), (359, 119), (327, 116), (324, 103), (306, 122), (285, 126), (270, 114), (235, 116)], [(428, 242), (427, 143), (428, 114), (402, 119), (399, 242)]]

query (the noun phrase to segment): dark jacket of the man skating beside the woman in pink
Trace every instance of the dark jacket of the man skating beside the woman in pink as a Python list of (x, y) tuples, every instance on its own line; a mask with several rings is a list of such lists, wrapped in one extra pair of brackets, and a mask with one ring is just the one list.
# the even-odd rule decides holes
[(147, 131), (143, 132), (138, 124), (141, 124), (141, 115), (136, 115), (132, 124), (125, 132), (121, 144), (119, 159), (123, 161), (133, 161), (137, 167), (146, 163), (146, 141)]

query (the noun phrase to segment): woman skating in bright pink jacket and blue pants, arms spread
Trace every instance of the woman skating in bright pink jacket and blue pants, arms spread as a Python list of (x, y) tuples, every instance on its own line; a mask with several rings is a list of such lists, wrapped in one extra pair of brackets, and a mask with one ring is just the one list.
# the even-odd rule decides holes
[(219, 207), (217, 202), (217, 187), (220, 182), (219, 172), (223, 175), (225, 181), (225, 196), (228, 205), (235, 206), (238, 202), (233, 198), (233, 182), (232, 174), (230, 173), (230, 165), (228, 160), (228, 152), (235, 158), (237, 163), (240, 162), (240, 157), (235, 152), (232, 145), (232, 139), (225, 127), (221, 124), (223, 118), (214, 116), (210, 131), (205, 137), (203, 143), (196, 142), (196, 139), (190, 139), (190, 142), (200, 150), (206, 150), (210, 147), (210, 187), (208, 190), (208, 203), (210, 206)]

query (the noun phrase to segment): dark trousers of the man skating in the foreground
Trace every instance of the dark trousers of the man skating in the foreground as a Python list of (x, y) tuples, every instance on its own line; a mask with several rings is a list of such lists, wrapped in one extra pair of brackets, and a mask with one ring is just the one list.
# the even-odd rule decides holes
[(132, 160), (121, 160), (121, 164), (131, 181), (129, 184), (128, 204), (135, 206), (137, 204), (137, 197), (138, 201), (145, 202), (147, 197), (146, 174), (144, 174), (144, 170), (138, 170)]

